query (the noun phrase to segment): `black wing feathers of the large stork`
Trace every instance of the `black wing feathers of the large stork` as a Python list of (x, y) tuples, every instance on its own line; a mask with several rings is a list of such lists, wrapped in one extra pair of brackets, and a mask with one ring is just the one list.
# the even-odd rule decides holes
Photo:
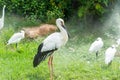
[(47, 58), (47, 56), (50, 56), (55, 50), (57, 50), (56, 48), (53, 50), (41, 52), (42, 47), (43, 47), (43, 43), (41, 43), (38, 47), (38, 52), (33, 60), (33, 67), (37, 67), (37, 65), (39, 65), (42, 61), (44, 61)]

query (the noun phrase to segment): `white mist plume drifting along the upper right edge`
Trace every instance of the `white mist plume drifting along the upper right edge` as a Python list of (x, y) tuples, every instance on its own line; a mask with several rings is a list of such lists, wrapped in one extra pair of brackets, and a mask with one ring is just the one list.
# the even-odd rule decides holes
[(106, 19), (103, 31), (109, 38), (120, 38), (120, 5), (116, 4)]

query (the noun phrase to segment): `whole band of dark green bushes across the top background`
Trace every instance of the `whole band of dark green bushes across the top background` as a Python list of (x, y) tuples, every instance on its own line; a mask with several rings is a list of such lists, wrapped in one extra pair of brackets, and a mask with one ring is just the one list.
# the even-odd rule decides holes
[(43, 22), (57, 17), (76, 15), (83, 21), (87, 18), (101, 20), (119, 0), (0, 0), (0, 7), (20, 16), (40, 19)]

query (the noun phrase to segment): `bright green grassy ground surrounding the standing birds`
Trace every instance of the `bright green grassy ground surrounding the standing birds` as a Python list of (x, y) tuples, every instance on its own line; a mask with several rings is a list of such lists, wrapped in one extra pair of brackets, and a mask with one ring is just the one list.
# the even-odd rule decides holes
[[(24, 39), (17, 50), (15, 45), (6, 46), (14, 32), (30, 25), (32, 23), (23, 18), (6, 17), (5, 26), (0, 32), (0, 80), (49, 80), (48, 59), (37, 68), (33, 68), (32, 64), (37, 47), (45, 37)], [(71, 38), (66, 46), (54, 53), (54, 80), (119, 80), (120, 58), (115, 57), (110, 67), (104, 64), (104, 52), (114, 41), (97, 30), (91, 33), (80, 30), (79, 24), (75, 25), (67, 22)], [(88, 49), (98, 36), (103, 38), (104, 47), (96, 59)]]

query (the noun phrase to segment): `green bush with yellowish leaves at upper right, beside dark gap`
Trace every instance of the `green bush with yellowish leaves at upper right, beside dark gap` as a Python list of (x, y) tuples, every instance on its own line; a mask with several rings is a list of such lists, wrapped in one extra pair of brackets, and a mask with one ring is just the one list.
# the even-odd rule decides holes
[(100, 19), (112, 10), (116, 2), (117, 0), (79, 0), (78, 16), (86, 18), (93, 16), (94, 19)]

